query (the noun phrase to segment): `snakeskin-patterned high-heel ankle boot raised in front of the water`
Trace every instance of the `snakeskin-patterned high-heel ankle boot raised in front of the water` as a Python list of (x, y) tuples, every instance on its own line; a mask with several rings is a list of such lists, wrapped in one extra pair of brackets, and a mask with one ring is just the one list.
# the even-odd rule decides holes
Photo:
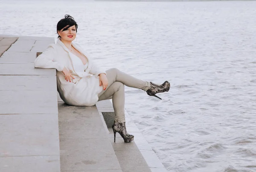
[(170, 83), (168, 81), (165, 81), (162, 85), (158, 85), (150, 82), (150, 88), (146, 92), (149, 96), (155, 96), (158, 99), (161, 99), (156, 94), (169, 91), (169, 89), (170, 89)]

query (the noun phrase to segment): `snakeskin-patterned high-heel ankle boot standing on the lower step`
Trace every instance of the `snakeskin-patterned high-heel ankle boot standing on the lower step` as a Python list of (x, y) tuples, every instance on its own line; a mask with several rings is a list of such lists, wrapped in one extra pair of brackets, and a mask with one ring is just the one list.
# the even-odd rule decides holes
[(125, 122), (119, 123), (119, 122), (115, 121), (114, 124), (112, 125), (112, 129), (114, 132), (114, 142), (116, 142), (116, 132), (122, 136), (122, 138), (124, 139), (125, 142), (133, 141), (134, 136), (127, 133), (126, 127), (125, 127)]

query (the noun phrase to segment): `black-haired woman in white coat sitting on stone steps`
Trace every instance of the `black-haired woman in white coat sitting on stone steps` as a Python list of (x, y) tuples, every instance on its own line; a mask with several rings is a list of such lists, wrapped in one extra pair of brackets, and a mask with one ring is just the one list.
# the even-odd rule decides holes
[(65, 15), (57, 24), (58, 40), (35, 59), (35, 68), (55, 68), (57, 87), (61, 99), (73, 106), (93, 106), (96, 102), (113, 99), (115, 120), (112, 126), (114, 142), (116, 132), (125, 142), (133, 141), (134, 136), (125, 127), (124, 85), (142, 89), (149, 96), (169, 91), (170, 83), (157, 85), (136, 79), (116, 68), (107, 71), (96, 66), (83, 49), (72, 41), (76, 38), (78, 25), (73, 17)]

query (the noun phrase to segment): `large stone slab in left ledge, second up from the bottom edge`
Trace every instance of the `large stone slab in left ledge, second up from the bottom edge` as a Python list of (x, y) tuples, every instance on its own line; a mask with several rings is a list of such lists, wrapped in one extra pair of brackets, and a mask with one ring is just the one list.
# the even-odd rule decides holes
[(5, 130), (1, 133), (0, 157), (58, 156), (56, 125), (57, 114), (0, 115), (0, 126)]

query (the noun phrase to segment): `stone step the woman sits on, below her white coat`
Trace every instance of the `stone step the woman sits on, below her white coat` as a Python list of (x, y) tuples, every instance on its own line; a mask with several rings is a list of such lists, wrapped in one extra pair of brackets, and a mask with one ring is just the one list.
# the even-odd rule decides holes
[(58, 102), (61, 172), (122, 172), (96, 106)]

